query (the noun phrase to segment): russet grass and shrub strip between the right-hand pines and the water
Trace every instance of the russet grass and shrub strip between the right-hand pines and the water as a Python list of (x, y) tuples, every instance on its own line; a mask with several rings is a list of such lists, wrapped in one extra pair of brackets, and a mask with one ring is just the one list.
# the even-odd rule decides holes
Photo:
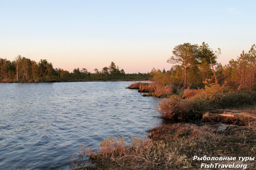
[[(225, 86), (205, 86), (204, 89), (179, 89), (177, 85), (161, 85), (156, 82), (132, 83), (129, 89), (146, 92), (143, 96), (165, 97), (158, 111), (167, 119), (202, 119), (204, 113), (256, 104), (256, 91), (239, 93)], [(222, 113), (222, 112), (219, 112)]]

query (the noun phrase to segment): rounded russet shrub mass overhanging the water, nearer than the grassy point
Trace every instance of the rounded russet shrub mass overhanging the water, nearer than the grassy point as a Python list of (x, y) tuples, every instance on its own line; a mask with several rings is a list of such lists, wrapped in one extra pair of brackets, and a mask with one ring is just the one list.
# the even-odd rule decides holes
[(201, 119), (204, 112), (209, 112), (212, 109), (253, 105), (256, 103), (255, 96), (255, 91), (237, 94), (210, 88), (197, 91), (186, 89), (183, 93), (185, 99), (172, 95), (161, 101), (158, 111), (161, 117), (168, 119)]

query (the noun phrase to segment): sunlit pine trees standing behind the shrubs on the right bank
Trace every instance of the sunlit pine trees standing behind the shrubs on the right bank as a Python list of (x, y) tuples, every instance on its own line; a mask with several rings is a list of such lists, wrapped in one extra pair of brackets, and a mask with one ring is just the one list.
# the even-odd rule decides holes
[(212, 50), (207, 43), (192, 45), (184, 43), (174, 47), (173, 55), (168, 63), (176, 64), (170, 70), (153, 68), (150, 76), (162, 85), (177, 84), (179, 88), (204, 88), (207, 85), (228, 86), (236, 89), (255, 88), (256, 46), (251, 46), (248, 52), (242, 51), (237, 59), (231, 59), (228, 64), (217, 62), (221, 49)]

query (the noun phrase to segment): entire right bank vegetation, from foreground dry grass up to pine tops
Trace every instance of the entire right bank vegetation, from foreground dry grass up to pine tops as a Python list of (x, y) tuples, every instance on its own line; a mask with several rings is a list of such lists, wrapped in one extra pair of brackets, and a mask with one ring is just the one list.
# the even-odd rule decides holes
[[(173, 123), (155, 127), (145, 139), (108, 138), (97, 152), (90, 147), (79, 150), (93, 163), (84, 166), (81, 159), (71, 167), (84, 169), (203, 169), (202, 163), (246, 164), (256, 169), (255, 161), (242, 162), (238, 157), (256, 157), (256, 47), (242, 51), (229, 64), (217, 63), (221, 54), (206, 43), (201, 46), (184, 43), (173, 49), (167, 62), (176, 64), (168, 71), (152, 69), (153, 82), (136, 82), (128, 88), (144, 96), (165, 97), (159, 104), (165, 119), (197, 119), (207, 123), (230, 124), (223, 131), (207, 126)], [(234, 108), (249, 106), (238, 111)], [(197, 157), (236, 157), (234, 161), (198, 161)], [(225, 168), (221, 168), (225, 169)]]

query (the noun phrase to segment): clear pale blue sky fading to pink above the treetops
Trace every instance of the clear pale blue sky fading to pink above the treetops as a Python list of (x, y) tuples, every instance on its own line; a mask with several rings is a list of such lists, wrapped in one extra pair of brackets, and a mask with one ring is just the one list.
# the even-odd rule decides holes
[(208, 43), (223, 65), (256, 43), (255, 0), (0, 0), (0, 58), (17, 55), (72, 72), (125, 73), (166, 63), (175, 46)]

